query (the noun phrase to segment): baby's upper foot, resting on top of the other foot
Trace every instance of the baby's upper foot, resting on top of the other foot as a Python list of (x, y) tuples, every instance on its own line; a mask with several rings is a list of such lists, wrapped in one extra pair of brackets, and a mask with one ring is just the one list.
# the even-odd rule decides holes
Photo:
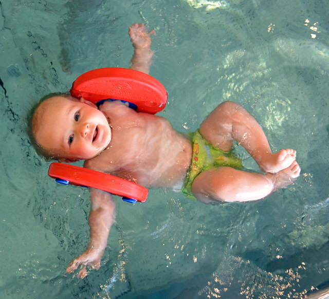
[(259, 164), (262, 171), (266, 173), (277, 173), (286, 169), (295, 160), (295, 149), (286, 148), (281, 149), (278, 153), (270, 154), (267, 157), (264, 157)]

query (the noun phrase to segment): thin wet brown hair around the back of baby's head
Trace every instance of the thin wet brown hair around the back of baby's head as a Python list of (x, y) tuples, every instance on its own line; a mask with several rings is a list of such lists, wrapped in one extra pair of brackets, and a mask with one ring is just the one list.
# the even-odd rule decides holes
[(32, 106), (32, 108), (28, 114), (28, 132), (27, 133), (28, 133), (30, 142), (33, 145), (33, 147), (35, 148), (36, 153), (38, 155), (43, 156), (46, 160), (54, 160), (54, 159), (58, 160), (61, 158), (61, 157), (56, 157), (53, 154), (49, 153), (49, 151), (46, 148), (42, 147), (35, 140), (35, 132), (39, 129), (40, 118), (42, 117), (42, 114), (43, 114), (42, 113), (43, 109), (41, 108), (38, 110), (38, 108), (41, 105), (41, 103), (43, 103), (44, 101), (46, 101), (52, 97), (63, 97), (63, 98), (67, 98), (67, 99), (72, 98), (69, 94), (63, 94), (60, 92), (49, 94), (49, 95), (41, 98), (39, 102), (35, 103)]

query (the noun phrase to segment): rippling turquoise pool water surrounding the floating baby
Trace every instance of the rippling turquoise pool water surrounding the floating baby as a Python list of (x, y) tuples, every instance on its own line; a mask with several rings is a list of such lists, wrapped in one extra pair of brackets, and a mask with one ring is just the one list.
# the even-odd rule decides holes
[[(299, 298), (329, 284), (329, 7), (326, 1), (0, 1), (2, 298)], [(30, 107), (90, 69), (129, 66), (128, 26), (157, 31), (161, 115), (195, 130), (224, 100), (302, 167), (252, 203), (203, 205), (170, 190), (118, 198), (102, 267), (67, 275), (88, 242), (88, 192), (57, 185), (26, 134)], [(240, 149), (244, 165), (257, 165)]]

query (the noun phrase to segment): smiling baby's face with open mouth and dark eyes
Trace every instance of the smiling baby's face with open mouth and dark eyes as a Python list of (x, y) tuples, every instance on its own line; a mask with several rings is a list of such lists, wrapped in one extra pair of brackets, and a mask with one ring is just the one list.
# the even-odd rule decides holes
[(90, 102), (53, 97), (38, 109), (42, 117), (34, 132), (35, 141), (50, 153), (68, 160), (87, 160), (99, 155), (111, 141), (106, 117)]

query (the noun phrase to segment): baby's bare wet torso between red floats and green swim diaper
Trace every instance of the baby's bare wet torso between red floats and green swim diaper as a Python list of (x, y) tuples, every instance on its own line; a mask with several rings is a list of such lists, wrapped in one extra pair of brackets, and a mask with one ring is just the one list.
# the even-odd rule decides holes
[(112, 127), (112, 140), (85, 167), (135, 181), (148, 188), (166, 188), (181, 181), (192, 158), (191, 142), (162, 117), (137, 113), (120, 102), (101, 107)]

